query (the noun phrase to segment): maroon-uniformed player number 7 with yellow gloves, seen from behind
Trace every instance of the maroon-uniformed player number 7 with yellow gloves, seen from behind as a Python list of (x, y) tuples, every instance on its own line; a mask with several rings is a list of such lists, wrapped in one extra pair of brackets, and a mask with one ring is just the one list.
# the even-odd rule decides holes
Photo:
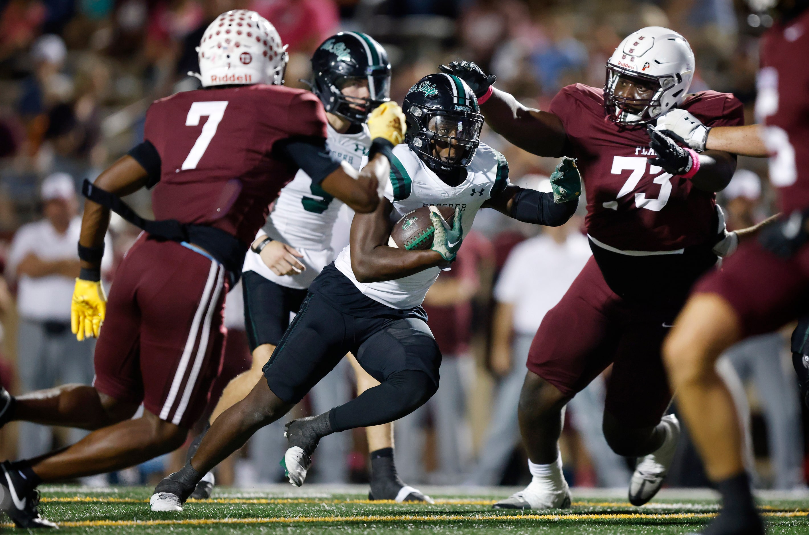
[[(51, 456), (0, 465), (0, 485), (20, 498), (2, 507), (19, 527), (49, 525), (36, 508), (40, 482), (137, 465), (184, 442), (222, 366), (225, 295), (269, 202), (299, 168), (358, 212), (379, 204), (385, 154), (404, 135), (395, 103), (372, 113), (371, 160), (358, 173), (327, 150), (320, 100), (282, 87), (287, 55), (266, 19), (228, 11), (197, 50), (203, 88), (155, 102), (144, 141), (83, 188), (71, 323), (79, 340), (99, 337), (94, 384), (20, 399), (0, 388), (0, 426), (25, 418), (95, 430)], [(152, 188), (156, 221), (118, 198), (144, 186)], [(111, 208), (145, 232), (106, 302), (99, 265)], [(141, 404), (142, 418), (130, 419)]]

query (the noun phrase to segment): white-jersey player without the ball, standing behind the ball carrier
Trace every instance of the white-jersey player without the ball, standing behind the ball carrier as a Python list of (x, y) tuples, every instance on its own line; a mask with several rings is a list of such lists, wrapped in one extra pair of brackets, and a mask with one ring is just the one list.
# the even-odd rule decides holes
[[(328, 119), (326, 146), (332, 156), (359, 170), (368, 161), (371, 136), (365, 121), (373, 108), (390, 100), (391, 66), (382, 45), (360, 32), (340, 32), (324, 40), (311, 57), (314, 80), (311, 90), (320, 98)], [(332, 228), (345, 203), (313, 184), (299, 170), (278, 195), (267, 223), (256, 235), (244, 259), (243, 289), (245, 329), (253, 364), (235, 377), (222, 392), (210, 422), (248, 395), (260, 380), (261, 368), (290, 323), (290, 312), (298, 312), (307, 288), (325, 265), (334, 260)], [(352, 212), (353, 213), (353, 212)], [(357, 377), (358, 393), (377, 380), (349, 361)], [(392, 423), (367, 430), (371, 456), (370, 499), (432, 501), (396, 475), (393, 461)], [(196, 452), (197, 436), (188, 458)], [(206, 473), (192, 498), (208, 499), (214, 485), (213, 473)]]

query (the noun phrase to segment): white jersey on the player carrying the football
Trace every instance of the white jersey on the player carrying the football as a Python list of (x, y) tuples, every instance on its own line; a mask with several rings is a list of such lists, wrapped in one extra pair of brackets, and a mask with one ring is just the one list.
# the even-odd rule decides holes
[[(391, 223), (396, 223), (402, 215), (422, 206), (450, 206), (460, 208), (466, 236), (472, 228), (477, 210), (491, 198), (492, 191), (500, 192), (509, 184), (506, 159), (483, 143), (467, 168), (466, 180), (455, 187), (438, 178), (406, 144), (395, 146), (393, 155), (391, 180), (385, 189), (385, 197), (393, 203)], [(358, 282), (351, 270), (349, 247), (337, 255), (334, 265), (363, 294), (388, 307), (400, 309), (420, 305), (441, 272), (433, 267), (392, 281)]]

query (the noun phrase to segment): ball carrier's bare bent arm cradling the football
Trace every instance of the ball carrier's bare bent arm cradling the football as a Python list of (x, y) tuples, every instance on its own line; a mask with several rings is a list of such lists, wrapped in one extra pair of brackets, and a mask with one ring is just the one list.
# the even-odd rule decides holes
[(447, 265), (432, 249), (407, 251), (388, 247), (391, 202), (383, 198), (371, 214), (356, 214), (351, 223), (351, 270), (358, 282), (389, 281), (435, 266)]

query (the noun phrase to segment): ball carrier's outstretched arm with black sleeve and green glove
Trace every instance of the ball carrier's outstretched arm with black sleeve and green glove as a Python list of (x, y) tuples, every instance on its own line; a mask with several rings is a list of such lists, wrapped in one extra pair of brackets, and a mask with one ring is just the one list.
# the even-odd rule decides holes
[(493, 195), (483, 206), (498, 210), (523, 223), (559, 227), (567, 223), (578, 208), (578, 197), (582, 195), (582, 176), (578, 173), (575, 160), (565, 158), (557, 164), (556, 171), (550, 178), (553, 193), (510, 184), (502, 192)]

